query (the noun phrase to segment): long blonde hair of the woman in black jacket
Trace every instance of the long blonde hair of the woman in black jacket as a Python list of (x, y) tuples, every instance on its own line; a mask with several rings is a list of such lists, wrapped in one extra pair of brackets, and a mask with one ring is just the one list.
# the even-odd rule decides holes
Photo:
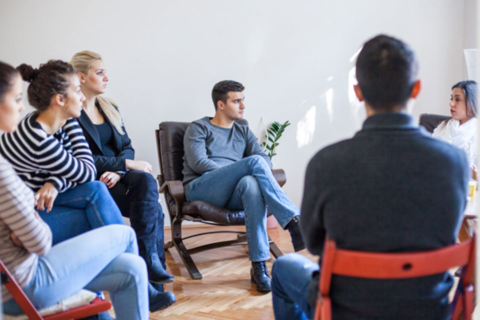
[[(88, 75), (91, 64), (96, 60), (101, 60), (100, 54), (85, 50), (73, 54), (70, 64), (76, 69), (77, 72)], [(100, 109), (103, 111), (103, 113), (105, 113), (106, 117), (108, 120), (110, 120), (111, 124), (113, 124), (118, 133), (124, 134), (125, 132), (122, 129), (123, 123), (120, 112), (118, 112), (118, 110), (113, 106), (115, 103), (111, 99), (101, 95), (97, 95), (96, 100), (100, 105)]]

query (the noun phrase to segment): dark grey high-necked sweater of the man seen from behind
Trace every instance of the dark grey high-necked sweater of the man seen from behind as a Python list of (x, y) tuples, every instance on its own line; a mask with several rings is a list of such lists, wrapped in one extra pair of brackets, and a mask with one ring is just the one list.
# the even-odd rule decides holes
[[(353, 138), (310, 160), (300, 225), (310, 252), (337, 247), (418, 251), (455, 241), (469, 171), (463, 151), (431, 138), (404, 113), (368, 117)], [(376, 280), (333, 276), (334, 319), (446, 319), (449, 274)]]

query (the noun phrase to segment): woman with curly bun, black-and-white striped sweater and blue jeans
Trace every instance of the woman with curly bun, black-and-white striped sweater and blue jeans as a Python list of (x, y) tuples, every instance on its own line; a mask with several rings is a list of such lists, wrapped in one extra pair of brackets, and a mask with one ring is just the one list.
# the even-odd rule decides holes
[[(84, 100), (76, 70), (60, 60), (18, 70), (30, 82), (28, 101), (37, 110), (1, 136), (0, 153), (36, 192), (35, 206), (52, 230), (53, 244), (91, 228), (123, 224), (105, 184), (93, 181), (95, 165), (76, 121)], [(148, 294), (151, 311), (175, 301), (174, 294), (151, 285)]]

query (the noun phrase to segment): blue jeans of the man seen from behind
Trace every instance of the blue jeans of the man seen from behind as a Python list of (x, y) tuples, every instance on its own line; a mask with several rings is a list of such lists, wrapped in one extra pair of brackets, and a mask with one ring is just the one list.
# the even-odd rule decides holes
[(271, 269), (271, 296), (275, 320), (312, 319), (314, 307), (307, 303), (312, 273), (318, 264), (297, 253), (276, 259)]

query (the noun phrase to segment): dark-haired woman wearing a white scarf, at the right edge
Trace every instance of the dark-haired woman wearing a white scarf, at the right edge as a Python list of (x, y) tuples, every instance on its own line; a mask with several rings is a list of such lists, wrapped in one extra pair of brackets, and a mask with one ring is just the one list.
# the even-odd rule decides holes
[(476, 95), (477, 83), (473, 80), (460, 81), (451, 87), (451, 118), (442, 121), (433, 130), (432, 136), (445, 140), (465, 151), (476, 179)]

